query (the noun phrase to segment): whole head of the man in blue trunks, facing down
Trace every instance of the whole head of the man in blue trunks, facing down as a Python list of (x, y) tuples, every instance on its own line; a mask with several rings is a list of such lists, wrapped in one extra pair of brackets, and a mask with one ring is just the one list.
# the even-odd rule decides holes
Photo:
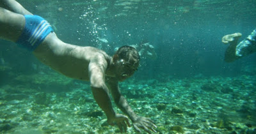
[(116, 65), (116, 78), (123, 81), (131, 77), (139, 67), (140, 55), (134, 47), (125, 45), (118, 48), (113, 56), (113, 63)]

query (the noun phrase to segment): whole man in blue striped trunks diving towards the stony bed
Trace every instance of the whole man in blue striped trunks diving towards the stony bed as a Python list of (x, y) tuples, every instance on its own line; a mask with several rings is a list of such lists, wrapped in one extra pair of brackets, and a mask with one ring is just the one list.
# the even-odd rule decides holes
[[(15, 0), (0, 1), (0, 38), (23, 45), (42, 63), (67, 77), (90, 81), (93, 97), (108, 117), (108, 123), (127, 131), (131, 119), (136, 131), (151, 133), (156, 125), (141, 117), (120, 93), (118, 82), (129, 78), (137, 70), (140, 56), (135, 48), (120, 47), (113, 57), (94, 47), (80, 47), (61, 41), (51, 25), (42, 17), (33, 15)], [(109, 93), (124, 114), (117, 114)]]

